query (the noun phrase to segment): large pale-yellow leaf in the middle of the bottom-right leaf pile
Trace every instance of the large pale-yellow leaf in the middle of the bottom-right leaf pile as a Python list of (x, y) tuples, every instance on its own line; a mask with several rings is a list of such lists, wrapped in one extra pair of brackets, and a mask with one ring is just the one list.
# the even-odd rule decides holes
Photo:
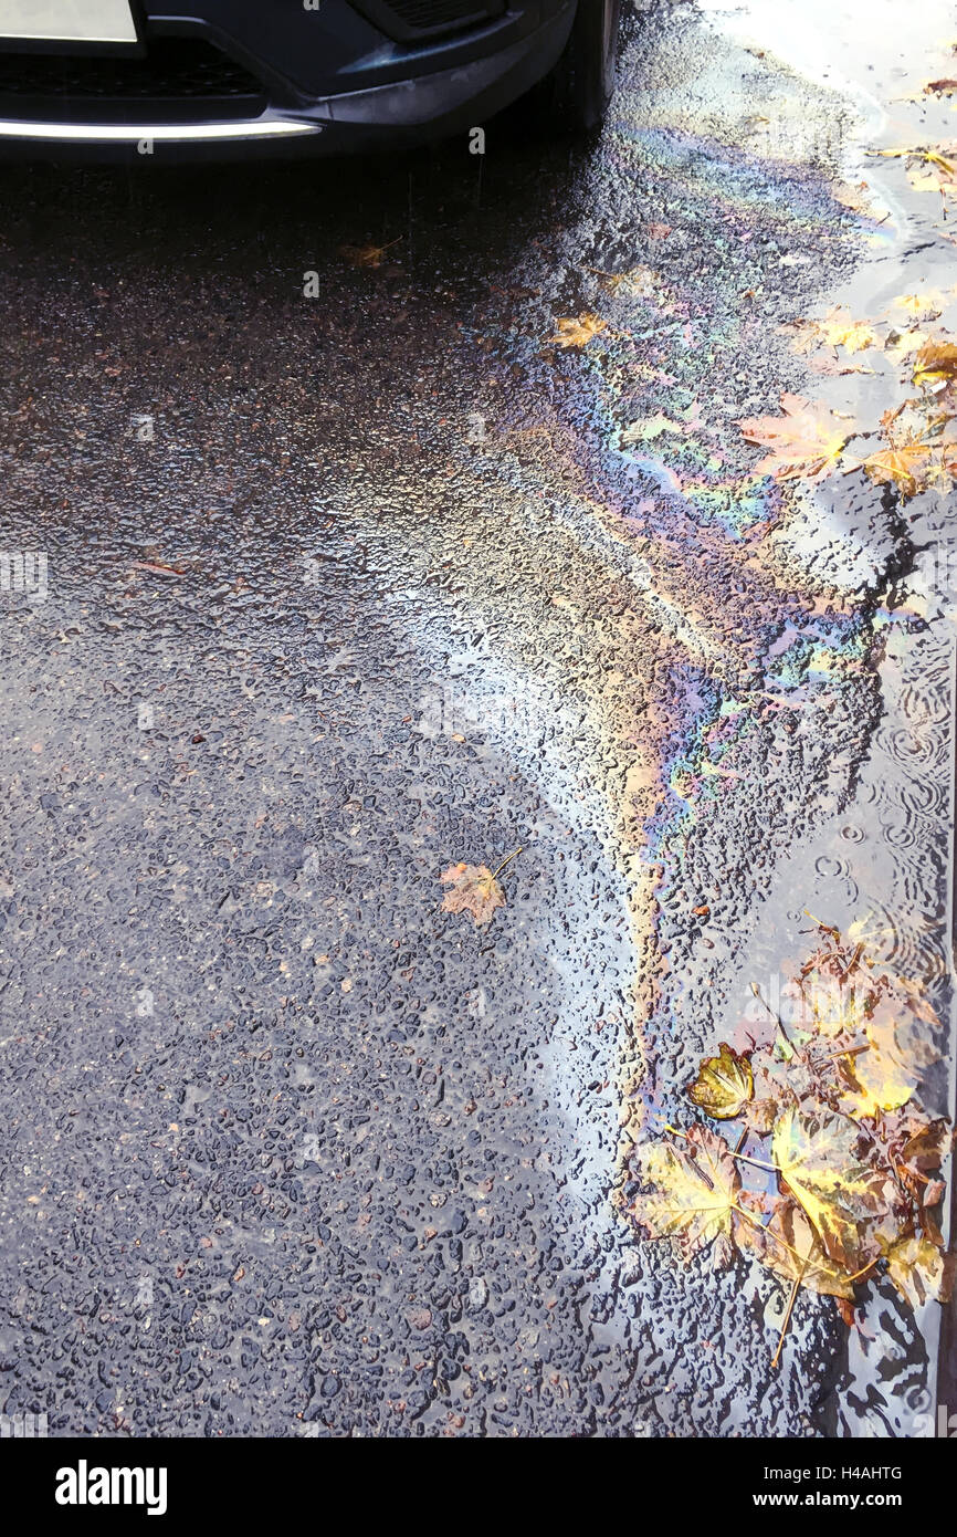
[(865, 1134), (831, 1110), (785, 1110), (771, 1157), (828, 1259), (854, 1273), (876, 1257), (865, 1225), (886, 1213), (885, 1176), (860, 1153)]

